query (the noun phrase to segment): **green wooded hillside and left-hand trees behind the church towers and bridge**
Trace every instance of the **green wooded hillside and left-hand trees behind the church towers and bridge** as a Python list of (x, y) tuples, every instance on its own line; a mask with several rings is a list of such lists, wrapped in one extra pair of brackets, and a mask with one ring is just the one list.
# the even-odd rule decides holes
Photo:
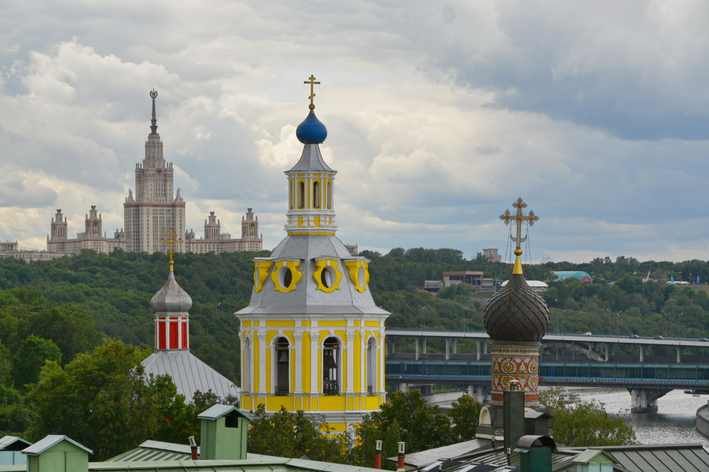
[[(233, 313), (249, 303), (252, 258), (267, 254), (175, 256), (176, 279), (194, 301), (191, 349), (233, 381), (240, 376), (239, 325)], [(479, 254), (465, 259), (454, 249), (362, 254), (372, 261), (374, 300), (392, 313), (389, 327), (482, 329), (489, 293), (454, 285), (434, 296), (420, 291), (423, 281), (440, 280), (447, 270), (484, 271), (486, 277), (504, 280), (512, 270), (511, 264), (489, 262)], [(709, 287), (666, 283), (672, 276), (694, 280), (699, 275), (709, 281), (706, 262), (640, 263), (619, 257), (524, 269), (527, 279), (549, 283), (544, 297), (552, 331), (709, 337)], [(588, 271), (596, 279), (553, 281), (552, 272), (561, 269)], [(133, 437), (136, 444), (141, 438), (167, 439), (197, 427), (194, 412), (216, 399), (207, 395), (199, 405), (184, 405), (169, 379), (158, 378), (146, 386), (135, 370), (152, 351), (150, 298), (164, 284), (167, 271), (167, 255), (160, 253), (84, 251), (30, 264), (0, 259), (0, 434), (26, 432), (38, 439), (72, 430), (110, 451), (115, 438), (100, 431), (116, 434), (110, 425), (118, 410), (126, 425), (145, 416), (163, 419), (141, 433), (144, 436)], [(648, 271), (654, 281), (643, 281)], [(406, 349), (406, 340), (398, 341), (397, 350)], [(430, 339), (428, 349), (442, 350), (442, 340)], [(474, 345), (460, 341), (458, 349), (465, 352)], [(121, 359), (116, 352), (123, 353)], [(140, 408), (130, 404), (141, 395), (155, 401)], [(73, 408), (70, 415), (62, 413), (67, 405)]]

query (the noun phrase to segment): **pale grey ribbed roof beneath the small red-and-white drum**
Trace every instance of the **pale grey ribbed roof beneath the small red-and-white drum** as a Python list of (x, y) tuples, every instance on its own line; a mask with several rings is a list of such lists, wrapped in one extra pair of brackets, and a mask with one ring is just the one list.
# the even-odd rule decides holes
[(141, 364), (146, 374), (171, 376), (177, 393), (184, 395), (188, 403), (196, 390), (206, 393), (211, 389), (220, 398), (240, 393), (232, 381), (186, 350), (155, 351)]

